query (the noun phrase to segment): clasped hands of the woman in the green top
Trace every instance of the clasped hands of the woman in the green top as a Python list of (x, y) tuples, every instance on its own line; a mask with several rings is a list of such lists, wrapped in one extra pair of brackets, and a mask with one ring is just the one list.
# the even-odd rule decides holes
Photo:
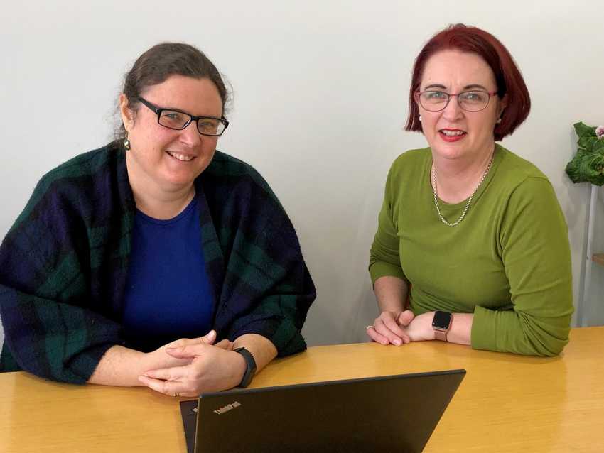
[(415, 316), (411, 310), (382, 312), (375, 318), (373, 327), (367, 327), (367, 335), (381, 344), (409, 344), (434, 339), (431, 313)]

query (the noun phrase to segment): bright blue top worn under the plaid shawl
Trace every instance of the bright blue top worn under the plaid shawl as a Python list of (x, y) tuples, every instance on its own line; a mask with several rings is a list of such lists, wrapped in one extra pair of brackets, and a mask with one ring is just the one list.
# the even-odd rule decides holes
[(131, 247), (122, 324), (131, 344), (150, 350), (207, 334), (214, 307), (197, 198), (168, 220), (136, 209)]

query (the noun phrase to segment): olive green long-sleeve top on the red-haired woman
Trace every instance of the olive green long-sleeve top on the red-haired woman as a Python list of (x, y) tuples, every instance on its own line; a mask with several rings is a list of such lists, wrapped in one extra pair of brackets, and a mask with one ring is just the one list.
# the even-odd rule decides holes
[[(475, 349), (552, 356), (568, 342), (573, 300), (566, 222), (532, 163), (500, 145), (460, 224), (434, 206), (430, 148), (390, 168), (370, 257), (372, 282), (411, 283), (411, 310), (473, 313)], [(445, 204), (457, 220), (466, 200)]]

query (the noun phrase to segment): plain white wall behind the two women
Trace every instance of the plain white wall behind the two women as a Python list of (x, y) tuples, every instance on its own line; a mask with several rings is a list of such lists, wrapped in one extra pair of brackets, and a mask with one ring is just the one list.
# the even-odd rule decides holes
[(532, 114), (503, 143), (554, 184), (577, 295), (588, 199), (586, 185), (573, 185), (563, 168), (575, 151), (571, 125), (604, 123), (601, 4), (486, 3), (6, 4), (0, 236), (43, 173), (109, 140), (122, 75), (136, 56), (161, 40), (183, 40), (234, 87), (232, 126), (219, 149), (252, 163), (296, 225), (318, 288), (304, 329), (309, 343), (362, 341), (377, 312), (367, 258), (387, 169), (399, 153), (424, 146), (420, 134), (402, 131), (411, 66), (432, 33), (464, 22), (498, 36), (524, 73)]

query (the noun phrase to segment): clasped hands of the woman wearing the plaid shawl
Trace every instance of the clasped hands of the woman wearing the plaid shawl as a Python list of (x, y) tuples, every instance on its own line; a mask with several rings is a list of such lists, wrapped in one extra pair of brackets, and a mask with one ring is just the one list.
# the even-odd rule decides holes
[(245, 361), (233, 351), (232, 342), (223, 339), (214, 344), (215, 340), (216, 332), (211, 330), (204, 337), (179, 339), (149, 353), (159, 359), (156, 364), (164, 366), (146, 371), (139, 381), (172, 396), (196, 397), (237, 386), (245, 372)]

